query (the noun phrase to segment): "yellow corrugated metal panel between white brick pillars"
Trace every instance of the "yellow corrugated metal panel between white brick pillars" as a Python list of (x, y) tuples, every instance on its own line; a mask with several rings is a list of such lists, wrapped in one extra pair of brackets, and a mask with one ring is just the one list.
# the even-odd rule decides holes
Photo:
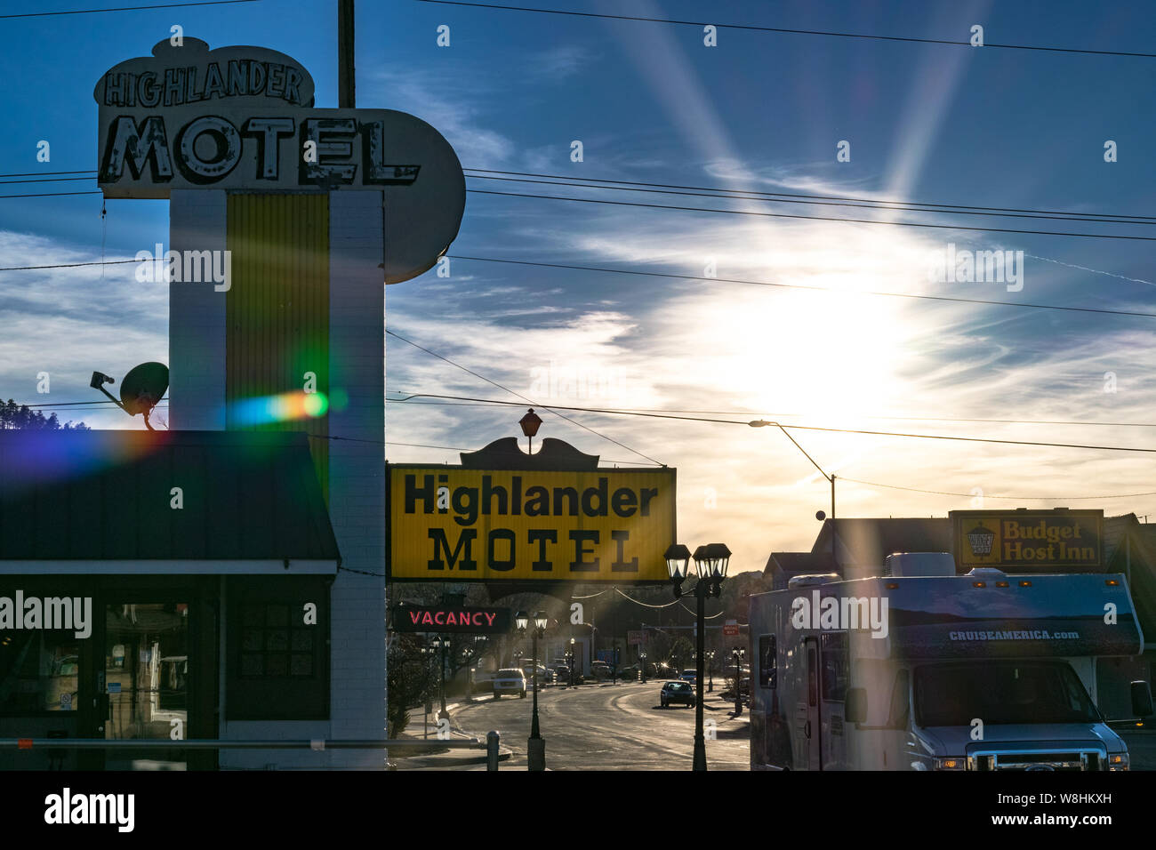
[[(305, 372), (329, 393), (329, 198), (230, 194), (228, 216), (225, 427), (328, 436), (328, 414), (245, 426), (234, 412), (245, 399), (301, 392)], [(328, 441), (310, 448), (328, 502)]]

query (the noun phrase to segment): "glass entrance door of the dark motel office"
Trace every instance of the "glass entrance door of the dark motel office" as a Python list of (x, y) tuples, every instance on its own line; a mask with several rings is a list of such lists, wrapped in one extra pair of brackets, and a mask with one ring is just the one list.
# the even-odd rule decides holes
[[(105, 606), (104, 738), (188, 737), (188, 605)], [(185, 751), (110, 748), (106, 770), (185, 770)]]

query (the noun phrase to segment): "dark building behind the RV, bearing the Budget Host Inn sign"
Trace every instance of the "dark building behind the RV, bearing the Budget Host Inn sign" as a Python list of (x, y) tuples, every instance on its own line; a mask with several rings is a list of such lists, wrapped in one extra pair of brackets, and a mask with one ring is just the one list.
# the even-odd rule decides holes
[(1107, 719), (1131, 718), (1129, 682), (1156, 681), (1156, 524), (1141, 523), (1134, 513), (1105, 517), (1099, 510), (1067, 508), (828, 518), (810, 552), (773, 552), (763, 575), (773, 590), (786, 589), (799, 575), (866, 578), (880, 575), (884, 559), (897, 552), (951, 553), (959, 575), (975, 567), (1008, 575), (1124, 574), (1146, 637), (1144, 652), (1097, 659), (1097, 704)]

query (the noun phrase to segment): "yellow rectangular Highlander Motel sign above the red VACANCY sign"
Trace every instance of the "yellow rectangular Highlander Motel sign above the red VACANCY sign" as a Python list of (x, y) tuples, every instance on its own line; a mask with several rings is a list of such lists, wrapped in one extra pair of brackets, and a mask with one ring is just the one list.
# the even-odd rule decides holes
[(394, 581), (664, 582), (674, 470), (390, 466)]

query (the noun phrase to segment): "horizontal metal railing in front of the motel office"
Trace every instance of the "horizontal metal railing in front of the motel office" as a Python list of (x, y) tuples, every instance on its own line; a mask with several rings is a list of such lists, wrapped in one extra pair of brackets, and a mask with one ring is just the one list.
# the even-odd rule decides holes
[(0, 751), (5, 749), (484, 749), (486, 769), (498, 769), (498, 744), (501, 736), (489, 732), (486, 740), (467, 739), (421, 739), (387, 738), (378, 740), (329, 740), (320, 739), (280, 739), (280, 740), (220, 740), (209, 738), (190, 738), (187, 740), (131, 738), (127, 740), (104, 740), (101, 738), (0, 738)]

